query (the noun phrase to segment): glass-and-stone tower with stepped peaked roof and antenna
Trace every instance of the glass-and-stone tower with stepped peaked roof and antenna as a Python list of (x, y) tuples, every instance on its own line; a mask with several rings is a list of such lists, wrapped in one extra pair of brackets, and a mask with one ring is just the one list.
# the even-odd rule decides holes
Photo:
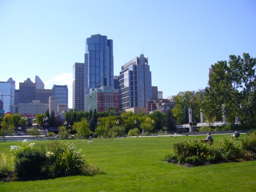
[(144, 54), (122, 66), (119, 76), (119, 108), (146, 107), (152, 98), (151, 72)]

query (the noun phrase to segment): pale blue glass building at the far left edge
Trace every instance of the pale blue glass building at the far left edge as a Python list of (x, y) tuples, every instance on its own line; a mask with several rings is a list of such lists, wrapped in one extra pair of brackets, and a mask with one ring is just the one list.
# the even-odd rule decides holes
[(4, 112), (11, 111), (14, 104), (15, 81), (9, 78), (6, 82), (0, 82), (0, 99), (3, 102)]

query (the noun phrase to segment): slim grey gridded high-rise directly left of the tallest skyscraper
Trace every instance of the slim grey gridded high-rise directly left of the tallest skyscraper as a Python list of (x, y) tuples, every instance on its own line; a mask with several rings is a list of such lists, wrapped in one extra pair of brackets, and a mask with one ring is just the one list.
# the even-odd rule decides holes
[(72, 108), (78, 111), (84, 110), (85, 96), (85, 68), (84, 63), (73, 65), (73, 84), (72, 84)]

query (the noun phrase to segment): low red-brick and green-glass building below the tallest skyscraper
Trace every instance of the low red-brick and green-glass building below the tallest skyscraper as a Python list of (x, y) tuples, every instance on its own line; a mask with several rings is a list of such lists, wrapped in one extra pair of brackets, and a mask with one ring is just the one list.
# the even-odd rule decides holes
[(109, 107), (119, 107), (119, 92), (113, 87), (102, 86), (91, 89), (85, 97), (85, 111), (96, 109), (98, 112), (108, 110)]

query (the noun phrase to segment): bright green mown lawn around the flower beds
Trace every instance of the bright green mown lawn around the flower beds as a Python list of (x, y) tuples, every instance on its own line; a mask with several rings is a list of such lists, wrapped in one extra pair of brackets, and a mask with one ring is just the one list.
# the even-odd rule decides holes
[[(214, 143), (225, 135), (212, 135)], [(228, 137), (229, 135), (226, 135)], [(240, 134), (240, 138), (245, 134)], [(206, 136), (199, 136), (199, 139)], [(198, 139), (197, 138), (197, 139)], [(70, 140), (82, 149), (89, 163), (105, 174), (70, 176), (26, 182), (0, 182), (1, 192), (253, 192), (256, 191), (256, 161), (231, 162), (184, 167), (164, 162), (173, 143), (193, 140), (194, 136), (138, 137), (118, 139)], [(231, 138), (230, 138), (231, 140)], [(52, 141), (33, 141), (36, 148)], [(240, 143), (240, 140), (234, 140)], [(10, 146), (21, 141), (0, 141), (0, 152), (11, 156)]]

